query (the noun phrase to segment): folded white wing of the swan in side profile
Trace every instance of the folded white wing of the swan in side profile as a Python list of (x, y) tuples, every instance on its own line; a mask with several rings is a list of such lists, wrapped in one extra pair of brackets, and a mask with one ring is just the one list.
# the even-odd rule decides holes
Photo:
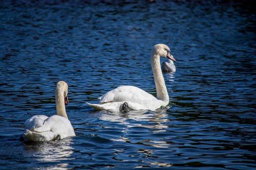
[(156, 98), (151, 94), (134, 86), (119, 86), (99, 98), (100, 103), (105, 102), (138, 102), (147, 103)]

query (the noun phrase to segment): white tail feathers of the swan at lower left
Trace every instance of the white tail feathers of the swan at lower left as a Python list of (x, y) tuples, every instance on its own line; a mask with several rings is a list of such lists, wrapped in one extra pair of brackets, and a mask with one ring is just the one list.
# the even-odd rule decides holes
[(50, 141), (56, 138), (55, 135), (51, 131), (47, 132), (35, 132), (32, 130), (26, 129), (26, 132), (23, 133), (22, 137), (25, 141)]

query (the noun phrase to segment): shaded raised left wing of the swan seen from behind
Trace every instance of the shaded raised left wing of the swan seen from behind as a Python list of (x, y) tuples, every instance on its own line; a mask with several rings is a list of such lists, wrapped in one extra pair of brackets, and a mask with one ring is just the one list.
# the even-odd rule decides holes
[(32, 116), (30, 119), (27, 119), (25, 122), (25, 130), (34, 130), (35, 128), (41, 127), (44, 125), (44, 120), (48, 117), (45, 115), (36, 115)]

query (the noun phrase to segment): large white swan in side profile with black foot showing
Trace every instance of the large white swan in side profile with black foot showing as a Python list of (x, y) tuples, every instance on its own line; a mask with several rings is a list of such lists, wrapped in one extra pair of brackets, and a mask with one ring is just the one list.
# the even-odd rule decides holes
[[(99, 104), (86, 104), (92, 106), (96, 111), (106, 110), (110, 112), (122, 111), (125, 102), (131, 110), (155, 110), (160, 106), (166, 106), (169, 103), (169, 95), (163, 79), (160, 57), (167, 57), (175, 61), (167, 45), (154, 45), (151, 52), (151, 66), (157, 89), (157, 98), (134, 86), (119, 86), (99, 97)], [(126, 104), (125, 107), (127, 107)]]

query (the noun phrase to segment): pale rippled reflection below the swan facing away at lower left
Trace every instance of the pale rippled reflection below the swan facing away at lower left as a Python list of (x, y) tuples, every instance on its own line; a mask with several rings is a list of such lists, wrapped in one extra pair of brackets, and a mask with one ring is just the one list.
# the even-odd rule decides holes
[[(66, 170), (67, 161), (74, 159), (71, 158), (73, 147), (72, 138), (65, 138), (60, 141), (48, 142), (25, 142), (24, 150), (29, 157), (40, 162), (51, 162), (49, 167), (51, 169)], [(56, 164), (52, 164), (56, 162)], [(58, 162), (58, 163), (57, 163)]]

